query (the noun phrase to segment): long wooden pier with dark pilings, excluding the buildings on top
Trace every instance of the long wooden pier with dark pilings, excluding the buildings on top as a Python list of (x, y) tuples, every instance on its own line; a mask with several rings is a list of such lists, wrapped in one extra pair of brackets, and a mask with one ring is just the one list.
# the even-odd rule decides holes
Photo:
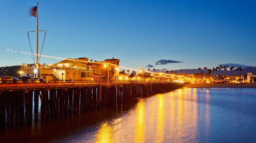
[[(59, 81), (61, 82), (61, 81)], [(85, 82), (43, 84), (38, 86), (24, 84), (0, 88), (0, 128), (15, 128), (63, 117), (81, 114), (108, 105), (130, 102), (137, 98), (149, 97), (183, 87), (182, 82)], [(33, 102), (34, 99), (34, 102)], [(34, 103), (34, 111), (33, 111)], [(41, 106), (39, 108), (39, 106)], [(40, 110), (40, 111), (39, 111)]]

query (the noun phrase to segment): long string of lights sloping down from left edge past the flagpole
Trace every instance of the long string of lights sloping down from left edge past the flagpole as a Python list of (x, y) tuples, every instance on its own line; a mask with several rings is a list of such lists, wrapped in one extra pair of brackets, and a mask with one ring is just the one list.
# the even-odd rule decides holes
[[(19, 53), (23, 53), (23, 54), (28, 54), (28, 55), (35, 55), (37, 56), (37, 54), (34, 54), (34, 53), (28, 53), (28, 52), (22, 52), (22, 51), (17, 51), (17, 50), (10, 50), (10, 49), (4, 49), (4, 48), (0, 48), (2, 50), (6, 50), (6, 51), (11, 51), (11, 52), (19, 52)], [(70, 59), (70, 58), (58, 58), (58, 57), (55, 57), (55, 56), (46, 56), (46, 55), (38, 55), (38, 56), (43, 56), (43, 57), (47, 57), (47, 58), (55, 58), (55, 59), (67, 59), (67, 60), (70, 60), (70, 61), (79, 61), (79, 62), (85, 62), (85, 61), (82, 61), (82, 60), (78, 60), (78, 59)], [(91, 61), (87, 61), (89, 63), (94, 63), (94, 64), (110, 64), (108, 62), (91, 62)], [(162, 76), (166, 75), (166, 76), (176, 76), (176, 77), (182, 77), (182, 76), (177, 76), (177, 75), (174, 75), (174, 74), (166, 74), (166, 73), (155, 73), (155, 72), (152, 72), (152, 71), (147, 71), (147, 70), (138, 70), (138, 69), (133, 69), (133, 68), (127, 68), (127, 67), (121, 67), (121, 66), (118, 66), (118, 65), (115, 65), (115, 64), (110, 64), (110, 65), (114, 65), (114, 66), (117, 66), (119, 68), (125, 68), (125, 69), (128, 69), (128, 70), (135, 70), (135, 71), (144, 71), (144, 72), (148, 72), (148, 73), (152, 73), (152, 74), (163, 74)], [(156, 75), (152, 75), (152, 76), (156, 76)], [(156, 77), (162, 77), (162, 76), (156, 76)], [(166, 77), (168, 78), (168, 77)]]

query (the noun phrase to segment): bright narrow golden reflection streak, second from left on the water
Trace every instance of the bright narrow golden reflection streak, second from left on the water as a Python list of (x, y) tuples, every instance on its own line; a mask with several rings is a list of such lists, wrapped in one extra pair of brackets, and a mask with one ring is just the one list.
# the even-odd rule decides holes
[(145, 100), (140, 99), (136, 107), (136, 125), (134, 130), (134, 143), (145, 142)]

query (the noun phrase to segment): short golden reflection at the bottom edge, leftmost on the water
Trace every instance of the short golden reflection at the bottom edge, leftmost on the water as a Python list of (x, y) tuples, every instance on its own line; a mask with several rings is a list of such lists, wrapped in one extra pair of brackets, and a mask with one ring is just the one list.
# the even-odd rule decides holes
[(102, 123), (95, 135), (95, 143), (113, 143), (113, 129), (108, 122)]

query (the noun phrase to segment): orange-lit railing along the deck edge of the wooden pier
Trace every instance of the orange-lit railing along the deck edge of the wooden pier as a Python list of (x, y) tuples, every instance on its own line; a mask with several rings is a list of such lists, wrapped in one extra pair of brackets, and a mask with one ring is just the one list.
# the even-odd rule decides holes
[[(48, 82), (38, 80), (21, 80), (17, 83), (2, 83), (0, 84), (0, 91), (35, 89), (35, 88), (58, 88), (58, 87), (86, 87), (86, 86), (107, 86), (107, 80), (50, 80)], [(109, 85), (123, 85), (123, 84), (151, 84), (151, 83), (170, 83), (172, 81), (121, 81), (110, 80)]]

